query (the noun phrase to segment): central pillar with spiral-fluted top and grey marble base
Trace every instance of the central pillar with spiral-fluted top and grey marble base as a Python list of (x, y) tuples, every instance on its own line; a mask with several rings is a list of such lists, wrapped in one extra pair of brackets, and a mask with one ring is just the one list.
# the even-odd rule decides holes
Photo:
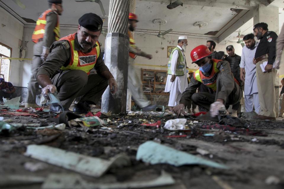
[(102, 112), (126, 112), (129, 37), (128, 15), (130, 0), (109, 1), (108, 34), (105, 41), (105, 64), (117, 81), (116, 94), (109, 87), (102, 96)]

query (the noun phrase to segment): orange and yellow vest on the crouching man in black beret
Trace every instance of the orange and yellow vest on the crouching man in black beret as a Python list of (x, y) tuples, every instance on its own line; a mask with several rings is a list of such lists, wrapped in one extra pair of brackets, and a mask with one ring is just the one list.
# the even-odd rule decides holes
[(74, 40), (75, 34), (70, 34), (60, 40), (67, 40), (71, 48), (71, 58), (70, 63), (67, 66), (62, 66), (61, 70), (83, 70), (88, 75), (90, 70), (94, 68), (98, 57), (100, 56), (100, 43), (96, 42), (96, 47), (91, 50), (89, 53), (83, 53), (81, 50), (74, 50)]

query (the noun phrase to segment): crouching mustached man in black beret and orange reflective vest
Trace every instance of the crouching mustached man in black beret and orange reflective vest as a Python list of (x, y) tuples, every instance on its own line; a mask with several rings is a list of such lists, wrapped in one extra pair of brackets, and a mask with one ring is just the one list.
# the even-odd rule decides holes
[[(117, 83), (102, 61), (99, 36), (103, 26), (102, 19), (93, 13), (79, 18), (77, 33), (70, 34), (50, 47), (46, 61), (39, 67), (36, 78), (43, 87), (42, 94), (57, 93), (65, 110), (68, 110), (76, 97), (81, 97), (73, 109), (76, 113), (87, 113), (90, 104), (96, 104), (106, 87), (112, 93)], [(95, 68), (96, 74), (90, 74)], [(51, 79), (50, 79), (51, 78)], [(52, 104), (50, 111), (60, 112), (58, 104)]]

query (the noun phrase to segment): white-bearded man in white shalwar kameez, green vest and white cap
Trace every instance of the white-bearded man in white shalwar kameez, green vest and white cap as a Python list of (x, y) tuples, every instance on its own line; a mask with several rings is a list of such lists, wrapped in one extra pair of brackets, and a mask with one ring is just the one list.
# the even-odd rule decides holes
[(187, 37), (180, 36), (178, 38), (178, 45), (172, 50), (168, 63), (165, 92), (170, 92), (168, 104), (170, 111), (179, 104), (181, 95), (188, 85), (186, 77), (186, 60), (184, 56), (186, 46)]

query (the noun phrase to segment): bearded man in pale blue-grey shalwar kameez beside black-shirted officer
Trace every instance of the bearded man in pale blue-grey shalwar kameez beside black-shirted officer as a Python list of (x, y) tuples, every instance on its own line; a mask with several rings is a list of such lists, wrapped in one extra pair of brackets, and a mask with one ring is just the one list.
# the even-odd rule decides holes
[(245, 82), (244, 94), (245, 94), (245, 108), (246, 112), (253, 111), (253, 107), (256, 113), (259, 113), (259, 97), (256, 82), (256, 65), (253, 63), (253, 58), (256, 52), (258, 42), (254, 40), (254, 34), (248, 34), (243, 37), (245, 46), (242, 50), (241, 56), (241, 80)]

